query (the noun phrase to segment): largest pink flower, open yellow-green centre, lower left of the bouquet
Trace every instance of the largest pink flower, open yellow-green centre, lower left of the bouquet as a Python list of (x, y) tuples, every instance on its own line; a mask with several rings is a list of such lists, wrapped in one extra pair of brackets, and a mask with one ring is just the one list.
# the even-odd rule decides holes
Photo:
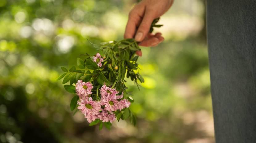
[[(89, 99), (89, 100), (88, 100)], [(91, 123), (97, 119), (97, 115), (100, 113), (101, 105), (97, 101), (93, 101), (92, 97), (87, 97), (85, 100), (80, 99), (81, 102), (77, 101), (77, 104), (80, 105), (77, 107), (87, 118), (87, 121)]]

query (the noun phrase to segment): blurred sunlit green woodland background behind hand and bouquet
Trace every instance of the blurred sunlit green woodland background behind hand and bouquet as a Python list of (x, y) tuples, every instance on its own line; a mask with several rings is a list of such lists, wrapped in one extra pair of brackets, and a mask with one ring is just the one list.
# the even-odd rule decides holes
[[(94, 43), (123, 38), (135, 0), (0, 0), (0, 142), (213, 143), (203, 0), (176, 0), (155, 29), (165, 41), (142, 47), (145, 79), (130, 106), (137, 126), (89, 127), (72, 116), (73, 95), (56, 78)], [(129, 80), (128, 80), (129, 81)]]

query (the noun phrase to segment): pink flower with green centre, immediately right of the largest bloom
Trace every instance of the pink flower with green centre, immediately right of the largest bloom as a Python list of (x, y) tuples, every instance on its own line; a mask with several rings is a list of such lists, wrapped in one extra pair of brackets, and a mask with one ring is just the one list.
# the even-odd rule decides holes
[(105, 110), (112, 112), (118, 109), (118, 100), (111, 98), (110, 96), (101, 96), (101, 104), (105, 105)]

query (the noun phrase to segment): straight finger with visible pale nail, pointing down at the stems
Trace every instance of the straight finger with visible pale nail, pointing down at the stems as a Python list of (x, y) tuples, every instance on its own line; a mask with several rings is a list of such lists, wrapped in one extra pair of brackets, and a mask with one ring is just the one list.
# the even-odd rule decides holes
[(155, 16), (155, 14), (152, 10), (145, 11), (142, 22), (140, 23), (137, 33), (135, 35), (136, 41), (140, 42), (146, 37), (146, 35), (148, 34), (149, 29), (151, 27), (151, 23), (154, 20), (154, 16)]

